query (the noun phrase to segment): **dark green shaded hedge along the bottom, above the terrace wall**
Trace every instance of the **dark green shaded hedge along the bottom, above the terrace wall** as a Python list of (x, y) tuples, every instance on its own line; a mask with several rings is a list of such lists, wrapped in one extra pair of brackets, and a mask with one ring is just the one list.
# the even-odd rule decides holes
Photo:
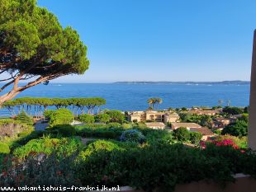
[(192, 181), (213, 180), (223, 185), (234, 181), (235, 173), (255, 175), (254, 168), (249, 170), (255, 161), (255, 154), (242, 153), (230, 146), (201, 150), (177, 144), (155, 145), (91, 153), (78, 166), (78, 176), (83, 185), (118, 184), (145, 191), (174, 191), (177, 184)]

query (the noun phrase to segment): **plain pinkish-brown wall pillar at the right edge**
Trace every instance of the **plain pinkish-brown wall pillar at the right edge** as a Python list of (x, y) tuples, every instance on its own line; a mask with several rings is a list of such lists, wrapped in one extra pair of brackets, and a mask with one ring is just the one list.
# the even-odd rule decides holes
[(256, 150), (256, 30), (254, 30), (254, 46), (251, 68), (248, 140), (249, 148)]

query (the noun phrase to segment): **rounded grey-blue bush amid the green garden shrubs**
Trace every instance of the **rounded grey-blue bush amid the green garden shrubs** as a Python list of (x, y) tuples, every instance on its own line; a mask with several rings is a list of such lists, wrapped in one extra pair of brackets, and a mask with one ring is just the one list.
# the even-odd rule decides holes
[(122, 142), (144, 143), (145, 136), (137, 129), (130, 129), (121, 133), (120, 140)]

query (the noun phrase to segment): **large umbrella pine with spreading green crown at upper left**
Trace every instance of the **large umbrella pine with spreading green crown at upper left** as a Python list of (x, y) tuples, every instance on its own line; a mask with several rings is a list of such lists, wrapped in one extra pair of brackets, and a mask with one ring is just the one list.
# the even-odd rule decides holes
[(36, 0), (1, 0), (0, 12), (0, 74), (9, 74), (0, 80), (5, 82), (0, 92), (13, 86), (0, 96), (0, 105), (41, 82), (88, 69), (87, 47), (77, 31), (60, 26)]

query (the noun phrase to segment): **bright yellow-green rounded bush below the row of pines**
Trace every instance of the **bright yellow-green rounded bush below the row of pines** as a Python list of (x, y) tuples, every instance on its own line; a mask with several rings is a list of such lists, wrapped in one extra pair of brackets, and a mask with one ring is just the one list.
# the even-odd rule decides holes
[(55, 110), (50, 115), (50, 122), (49, 125), (55, 126), (57, 124), (70, 124), (73, 122), (73, 114), (68, 109), (59, 109)]

